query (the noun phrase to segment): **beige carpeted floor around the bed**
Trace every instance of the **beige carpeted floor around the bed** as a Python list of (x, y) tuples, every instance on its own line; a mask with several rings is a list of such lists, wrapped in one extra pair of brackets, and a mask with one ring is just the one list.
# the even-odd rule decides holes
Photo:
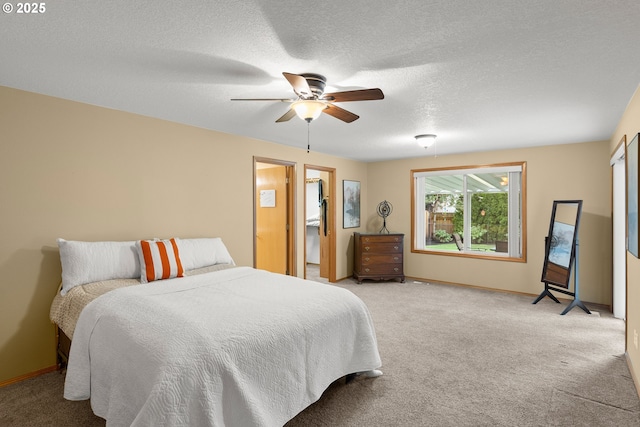
[[(287, 427), (640, 426), (624, 322), (610, 313), (411, 281), (338, 286), (369, 307), (384, 375), (336, 381)], [(62, 387), (51, 373), (0, 388), (0, 425), (104, 425)]]

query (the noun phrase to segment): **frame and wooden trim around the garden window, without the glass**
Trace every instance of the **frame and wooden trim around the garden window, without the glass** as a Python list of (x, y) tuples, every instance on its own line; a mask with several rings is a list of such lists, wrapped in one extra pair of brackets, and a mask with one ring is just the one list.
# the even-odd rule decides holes
[[(511, 255), (511, 252), (508, 252), (506, 255), (498, 255), (496, 253), (486, 253), (486, 252), (478, 252), (478, 251), (466, 251), (461, 250), (458, 252), (449, 251), (449, 250), (436, 250), (436, 249), (419, 249), (416, 245), (416, 233), (419, 231), (424, 232), (425, 227), (418, 227), (416, 224), (416, 174), (423, 174), (425, 172), (434, 172), (437, 174), (442, 174), (443, 172), (450, 172), (451, 175), (466, 175), (469, 174), (469, 171), (472, 170), (480, 170), (479, 173), (482, 173), (482, 169), (500, 169), (504, 168), (505, 170), (511, 169), (513, 167), (520, 167), (520, 254), (516, 254), (516, 256)], [(494, 164), (486, 164), (486, 165), (467, 165), (467, 166), (447, 166), (440, 168), (424, 168), (424, 169), (412, 169), (410, 171), (410, 180), (411, 180), (411, 252), (412, 253), (421, 253), (428, 255), (444, 255), (444, 256), (454, 256), (454, 257), (462, 257), (462, 258), (476, 258), (476, 259), (490, 259), (490, 260), (498, 260), (498, 261), (511, 261), (511, 262), (527, 262), (527, 163), (526, 162), (509, 162), (509, 163), (494, 163)], [(512, 192), (509, 191), (509, 198), (511, 199)], [(422, 198), (424, 198), (424, 193), (422, 194)], [(424, 203), (424, 202), (422, 202)], [(463, 212), (463, 215), (468, 215), (468, 212)], [(466, 222), (466, 221), (465, 221)], [(509, 243), (510, 246), (513, 243)]]

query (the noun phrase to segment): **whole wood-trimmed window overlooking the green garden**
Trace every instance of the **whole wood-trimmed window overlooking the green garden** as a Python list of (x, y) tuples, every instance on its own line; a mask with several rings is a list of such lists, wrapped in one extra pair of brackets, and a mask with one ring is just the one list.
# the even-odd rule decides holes
[(526, 260), (526, 163), (411, 171), (412, 252)]

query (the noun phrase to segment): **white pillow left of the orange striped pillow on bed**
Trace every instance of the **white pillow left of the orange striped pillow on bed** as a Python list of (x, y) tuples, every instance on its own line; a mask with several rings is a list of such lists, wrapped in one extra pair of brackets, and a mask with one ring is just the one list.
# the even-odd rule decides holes
[(136, 242), (81, 242), (58, 239), (62, 291), (86, 283), (140, 278)]

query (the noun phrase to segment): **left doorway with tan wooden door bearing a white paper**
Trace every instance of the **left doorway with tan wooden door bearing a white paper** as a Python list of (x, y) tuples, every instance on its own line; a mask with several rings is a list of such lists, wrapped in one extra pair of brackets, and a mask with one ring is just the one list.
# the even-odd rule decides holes
[(296, 275), (295, 163), (254, 157), (253, 264)]

